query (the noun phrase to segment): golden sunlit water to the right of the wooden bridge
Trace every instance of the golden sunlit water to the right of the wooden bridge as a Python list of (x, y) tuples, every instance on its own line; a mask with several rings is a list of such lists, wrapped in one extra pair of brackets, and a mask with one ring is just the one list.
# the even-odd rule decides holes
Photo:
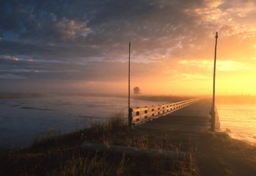
[(256, 105), (218, 104), (221, 130), (230, 129), (234, 139), (256, 145)]

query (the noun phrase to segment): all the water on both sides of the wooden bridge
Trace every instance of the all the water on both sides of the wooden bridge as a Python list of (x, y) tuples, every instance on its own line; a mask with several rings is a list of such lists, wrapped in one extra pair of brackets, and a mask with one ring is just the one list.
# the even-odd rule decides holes
[[(131, 108), (166, 102), (131, 99)], [(256, 143), (256, 106), (218, 104), (221, 130), (232, 138)], [(104, 122), (114, 111), (127, 117), (127, 98), (56, 96), (0, 99), (0, 148), (27, 147), (45, 131), (71, 132)]]

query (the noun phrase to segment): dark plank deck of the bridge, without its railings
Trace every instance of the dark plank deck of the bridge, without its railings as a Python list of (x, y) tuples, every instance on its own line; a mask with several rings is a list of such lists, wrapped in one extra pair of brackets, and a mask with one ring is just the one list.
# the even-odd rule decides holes
[(201, 100), (164, 117), (146, 122), (137, 128), (147, 131), (165, 131), (173, 134), (199, 134), (209, 126), (210, 102)]

